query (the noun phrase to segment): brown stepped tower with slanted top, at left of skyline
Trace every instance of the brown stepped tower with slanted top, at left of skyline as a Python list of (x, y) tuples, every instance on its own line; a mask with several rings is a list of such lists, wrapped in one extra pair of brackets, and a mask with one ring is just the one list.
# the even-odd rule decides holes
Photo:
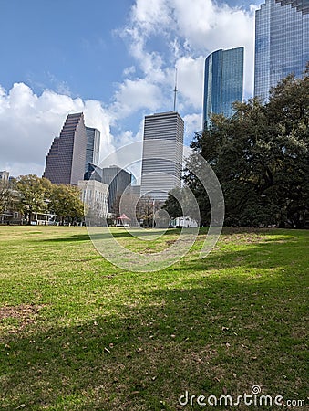
[(84, 114), (68, 114), (46, 156), (43, 177), (54, 184), (74, 184), (83, 180), (86, 162), (87, 134)]

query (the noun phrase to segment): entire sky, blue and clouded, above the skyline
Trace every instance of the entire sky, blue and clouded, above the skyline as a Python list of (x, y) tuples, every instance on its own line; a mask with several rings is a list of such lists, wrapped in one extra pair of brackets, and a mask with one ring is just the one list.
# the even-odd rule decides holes
[(101, 159), (141, 141), (145, 115), (173, 110), (175, 68), (189, 145), (201, 130), (212, 51), (244, 46), (244, 98), (252, 97), (261, 3), (0, 0), (0, 171), (41, 176), (70, 112), (101, 132)]

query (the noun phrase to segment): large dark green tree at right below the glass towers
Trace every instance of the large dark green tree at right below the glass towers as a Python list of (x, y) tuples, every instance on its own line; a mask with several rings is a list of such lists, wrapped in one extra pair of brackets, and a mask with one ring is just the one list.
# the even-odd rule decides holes
[[(308, 72), (304, 79), (283, 79), (265, 105), (252, 99), (234, 108), (231, 119), (214, 115), (211, 126), (191, 142), (221, 182), (225, 224), (288, 222), (304, 227), (309, 199)], [(204, 205), (207, 195), (194, 175), (188, 172), (185, 180)]]

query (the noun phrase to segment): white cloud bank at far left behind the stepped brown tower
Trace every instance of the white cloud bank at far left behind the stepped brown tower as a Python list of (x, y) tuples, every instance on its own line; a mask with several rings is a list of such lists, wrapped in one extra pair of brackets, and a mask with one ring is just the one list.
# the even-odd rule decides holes
[(37, 96), (24, 83), (0, 88), (0, 169), (15, 175), (44, 171), (46, 153), (69, 112), (83, 111), (88, 126), (101, 131), (101, 153), (114, 149), (110, 115), (95, 100), (72, 99), (46, 90)]

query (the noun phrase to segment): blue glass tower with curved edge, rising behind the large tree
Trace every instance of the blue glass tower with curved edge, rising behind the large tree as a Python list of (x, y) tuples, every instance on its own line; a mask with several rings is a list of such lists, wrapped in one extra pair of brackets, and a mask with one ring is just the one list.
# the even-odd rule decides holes
[(232, 103), (242, 101), (243, 47), (217, 50), (205, 60), (204, 104), (202, 127), (212, 114), (230, 117)]

